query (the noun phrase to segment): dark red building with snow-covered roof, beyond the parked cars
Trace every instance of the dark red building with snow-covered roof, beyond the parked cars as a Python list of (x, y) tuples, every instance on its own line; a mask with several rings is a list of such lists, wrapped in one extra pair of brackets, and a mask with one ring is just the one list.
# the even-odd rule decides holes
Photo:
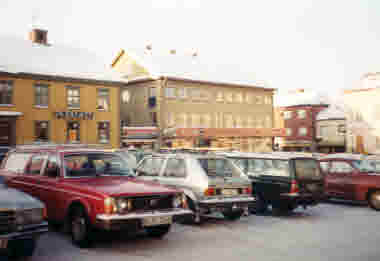
[(276, 149), (282, 151), (317, 151), (316, 118), (328, 107), (315, 92), (296, 90), (277, 93), (276, 128), (285, 128), (286, 137), (276, 138)]

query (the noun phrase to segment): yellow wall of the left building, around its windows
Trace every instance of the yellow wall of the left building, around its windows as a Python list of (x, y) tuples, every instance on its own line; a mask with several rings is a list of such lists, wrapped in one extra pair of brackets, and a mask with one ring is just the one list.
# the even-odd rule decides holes
[[(13, 81), (14, 106), (1, 106), (0, 111), (16, 111), (23, 113), (16, 120), (16, 143), (29, 144), (35, 140), (35, 121), (49, 121), (50, 140), (56, 143), (66, 143), (67, 120), (56, 119), (54, 112), (69, 111), (66, 104), (66, 86), (80, 87), (80, 109), (78, 112), (94, 112), (93, 120), (73, 120), (80, 122), (81, 143), (97, 144), (97, 123), (110, 122), (110, 144), (106, 147), (119, 147), (120, 136), (120, 88), (117, 86), (101, 86), (94, 84), (64, 83), (55, 81), (39, 81), (34, 79), (20, 79), (0, 77), (0, 80)], [(49, 85), (48, 108), (37, 108), (35, 104), (34, 84)], [(110, 110), (97, 111), (97, 89), (107, 88), (110, 92)]]

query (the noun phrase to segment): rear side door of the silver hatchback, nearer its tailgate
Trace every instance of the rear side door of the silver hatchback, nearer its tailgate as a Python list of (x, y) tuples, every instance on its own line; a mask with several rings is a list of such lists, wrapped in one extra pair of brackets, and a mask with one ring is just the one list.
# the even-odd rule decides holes
[(187, 174), (188, 171), (184, 159), (176, 157), (168, 158), (160, 177), (160, 182), (172, 188), (185, 189)]

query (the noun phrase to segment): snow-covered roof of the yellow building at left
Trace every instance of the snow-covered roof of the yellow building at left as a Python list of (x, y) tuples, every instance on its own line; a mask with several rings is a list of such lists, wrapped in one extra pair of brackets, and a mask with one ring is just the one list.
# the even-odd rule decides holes
[(63, 45), (42, 45), (0, 35), (0, 72), (127, 83), (95, 54)]

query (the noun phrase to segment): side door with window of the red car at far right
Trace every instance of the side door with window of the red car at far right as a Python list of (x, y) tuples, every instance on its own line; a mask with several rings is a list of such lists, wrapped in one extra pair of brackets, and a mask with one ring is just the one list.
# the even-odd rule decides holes
[(348, 196), (346, 179), (351, 172), (353, 172), (353, 168), (346, 161), (334, 160), (330, 162), (330, 169), (326, 177), (326, 191), (330, 196), (339, 198)]

